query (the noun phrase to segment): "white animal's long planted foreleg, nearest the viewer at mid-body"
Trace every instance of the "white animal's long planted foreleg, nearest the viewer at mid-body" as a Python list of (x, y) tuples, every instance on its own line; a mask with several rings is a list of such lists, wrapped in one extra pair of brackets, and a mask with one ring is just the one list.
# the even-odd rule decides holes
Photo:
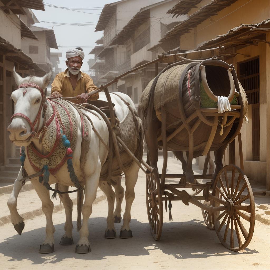
[(91, 251), (90, 244), (88, 241), (88, 220), (92, 214), (92, 204), (96, 199), (97, 187), (99, 184), (99, 176), (101, 171), (100, 162), (96, 166), (96, 170), (91, 176), (86, 180), (85, 183), (85, 202), (82, 207), (83, 214), (83, 224), (80, 229), (80, 240), (76, 245), (75, 252), (77, 253), (88, 253)]

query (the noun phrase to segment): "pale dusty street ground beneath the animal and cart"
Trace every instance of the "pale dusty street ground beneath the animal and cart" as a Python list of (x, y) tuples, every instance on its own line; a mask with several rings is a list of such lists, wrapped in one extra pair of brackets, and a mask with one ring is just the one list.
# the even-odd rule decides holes
[[(169, 173), (180, 170), (176, 160), (171, 160), (170, 164)], [(58, 244), (64, 233), (65, 222), (64, 210), (60, 210), (53, 214), (55, 252), (49, 255), (38, 252), (39, 245), (45, 239), (43, 215), (28, 219), (21, 236), (11, 224), (1, 226), (1, 269), (30, 270), (40, 269), (40, 266), (42, 269), (270, 269), (270, 226), (256, 220), (254, 236), (248, 248), (231, 252), (220, 244), (215, 231), (206, 228), (199, 208), (176, 201), (172, 208), (174, 221), (169, 222), (168, 213), (164, 213), (162, 237), (156, 242), (151, 236), (147, 220), (145, 176), (142, 172), (135, 191), (136, 198), (131, 211), (133, 238), (119, 238), (121, 224), (115, 224), (116, 239), (104, 238), (107, 202), (100, 191), (101, 201), (93, 205), (93, 214), (89, 219), (91, 253), (74, 252), (79, 239), (79, 233), (75, 230), (75, 244)], [(25, 195), (26, 192), (20, 203), (26, 207), (35, 203), (40, 207), (38, 200), (32, 196), (27, 199)], [(257, 200), (269, 207), (269, 200), (265, 201), (261, 197)], [(75, 207), (73, 213), (73, 226), (76, 227)]]

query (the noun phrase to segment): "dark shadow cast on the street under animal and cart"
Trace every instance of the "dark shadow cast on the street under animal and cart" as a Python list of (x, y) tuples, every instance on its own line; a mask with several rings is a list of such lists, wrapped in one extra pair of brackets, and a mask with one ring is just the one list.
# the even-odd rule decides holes
[[(102, 225), (101, 225), (102, 224)], [(156, 242), (150, 233), (149, 224), (131, 220), (133, 238), (120, 239), (119, 232), (122, 224), (116, 224), (117, 238), (105, 239), (106, 218), (90, 218), (90, 254), (76, 254), (75, 245), (79, 240), (79, 233), (73, 230), (74, 243), (61, 246), (59, 241), (64, 233), (63, 224), (55, 225), (55, 252), (40, 254), (39, 245), (45, 239), (45, 227), (14, 235), (0, 243), (0, 253), (11, 257), (8, 261), (29, 260), (32, 264), (57, 263), (66, 258), (102, 260), (110, 256), (147, 256), (151, 257), (154, 250), (160, 249), (164, 254), (173, 255), (176, 259), (207, 258), (218, 256), (240, 256), (243, 254), (259, 253), (246, 248), (241, 252), (232, 252), (223, 247), (215, 233), (205, 227), (199, 220), (188, 222), (170, 222), (163, 224), (163, 234)], [(74, 222), (74, 227), (76, 224)], [(104, 227), (105, 226), (105, 227)], [(11, 225), (11, 230), (13, 226)], [(239, 259), (240, 259), (239, 257)]]

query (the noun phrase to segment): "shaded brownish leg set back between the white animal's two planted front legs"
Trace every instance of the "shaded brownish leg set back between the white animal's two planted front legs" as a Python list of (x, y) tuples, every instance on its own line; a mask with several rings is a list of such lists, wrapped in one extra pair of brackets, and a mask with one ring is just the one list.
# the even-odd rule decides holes
[[(58, 184), (58, 189), (61, 192), (65, 192), (65, 191), (68, 191), (68, 186)], [(73, 203), (72, 203), (72, 200), (69, 198), (68, 193), (59, 194), (59, 198), (60, 198), (61, 202), (64, 205), (65, 213), (66, 213), (66, 223), (65, 223), (65, 227), (64, 227), (65, 234), (61, 238), (60, 245), (65, 245), (66, 246), (66, 245), (73, 244), (73, 238), (72, 238), (72, 229), (73, 229), (73, 225), (72, 225), (72, 206), (73, 206)]]

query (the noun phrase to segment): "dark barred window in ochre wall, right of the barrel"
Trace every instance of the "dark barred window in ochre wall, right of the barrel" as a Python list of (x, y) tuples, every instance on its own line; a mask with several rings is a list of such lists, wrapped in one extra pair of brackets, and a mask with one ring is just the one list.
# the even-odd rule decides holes
[(238, 79), (246, 90), (248, 104), (260, 103), (260, 59), (240, 63)]

